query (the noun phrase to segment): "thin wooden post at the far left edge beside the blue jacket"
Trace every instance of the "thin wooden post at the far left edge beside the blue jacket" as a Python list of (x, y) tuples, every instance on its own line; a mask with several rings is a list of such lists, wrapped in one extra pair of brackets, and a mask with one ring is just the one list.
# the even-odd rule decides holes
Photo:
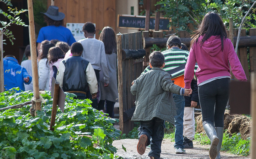
[(4, 92), (4, 49), (3, 32), (0, 31), (0, 92)]

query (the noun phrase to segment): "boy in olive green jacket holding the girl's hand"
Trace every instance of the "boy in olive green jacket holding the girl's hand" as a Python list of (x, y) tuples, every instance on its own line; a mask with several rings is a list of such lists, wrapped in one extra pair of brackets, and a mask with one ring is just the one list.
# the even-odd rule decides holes
[[(137, 151), (144, 154), (146, 146), (151, 145), (149, 157), (160, 159), (161, 144), (164, 137), (164, 121), (174, 124), (176, 108), (172, 92), (188, 95), (192, 91), (175, 85), (171, 76), (163, 70), (164, 55), (154, 51), (149, 56), (149, 72), (132, 82), (131, 92), (136, 95), (136, 109), (131, 121), (139, 121), (139, 142)], [(152, 138), (151, 141), (148, 139)]]

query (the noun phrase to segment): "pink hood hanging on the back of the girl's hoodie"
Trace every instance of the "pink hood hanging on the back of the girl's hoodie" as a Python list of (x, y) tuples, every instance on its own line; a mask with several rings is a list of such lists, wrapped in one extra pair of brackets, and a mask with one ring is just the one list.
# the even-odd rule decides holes
[[(198, 38), (198, 41), (201, 41), (203, 39), (203, 36), (200, 36)], [(211, 56), (217, 55), (219, 52), (221, 52), (221, 39), (220, 36), (211, 36), (209, 39), (207, 39), (203, 45), (202, 49), (207, 52), (207, 54)]]

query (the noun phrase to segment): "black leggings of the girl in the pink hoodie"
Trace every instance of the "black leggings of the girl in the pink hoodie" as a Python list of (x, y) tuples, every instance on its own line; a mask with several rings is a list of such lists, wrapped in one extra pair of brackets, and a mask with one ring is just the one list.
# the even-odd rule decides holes
[(221, 78), (198, 87), (203, 124), (224, 127), (224, 113), (229, 98), (230, 78)]

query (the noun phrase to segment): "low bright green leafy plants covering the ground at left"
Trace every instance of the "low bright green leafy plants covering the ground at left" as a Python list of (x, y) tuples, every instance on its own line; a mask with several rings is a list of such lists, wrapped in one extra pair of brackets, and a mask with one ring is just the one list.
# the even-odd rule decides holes
[[(32, 92), (15, 93), (15, 89), (0, 93), (0, 107), (31, 100)], [(120, 136), (112, 124), (117, 119), (103, 116), (90, 100), (75, 100), (74, 94), (66, 93), (64, 113), (58, 109), (55, 130), (50, 131), (53, 99), (49, 95), (49, 91), (42, 94), (46, 103), (38, 116), (30, 116), (29, 105), (0, 112), (0, 158), (118, 158), (112, 145)]]

